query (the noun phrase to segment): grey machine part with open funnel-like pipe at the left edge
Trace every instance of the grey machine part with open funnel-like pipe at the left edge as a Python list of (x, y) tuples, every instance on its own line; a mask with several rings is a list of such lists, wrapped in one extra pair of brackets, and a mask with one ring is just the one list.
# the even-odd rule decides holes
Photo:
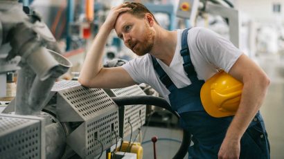
[(46, 48), (55, 41), (53, 35), (35, 12), (24, 12), (17, 1), (0, 1), (0, 32), (1, 97), (6, 95), (6, 72), (18, 71), (17, 96), (0, 115), (0, 156), (57, 158), (62, 152), (54, 150), (64, 149), (64, 130), (42, 109), (55, 79), (71, 63)]

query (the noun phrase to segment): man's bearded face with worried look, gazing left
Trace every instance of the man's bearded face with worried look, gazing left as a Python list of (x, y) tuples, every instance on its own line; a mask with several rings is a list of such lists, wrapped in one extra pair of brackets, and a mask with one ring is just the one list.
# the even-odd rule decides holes
[(145, 18), (139, 19), (129, 13), (123, 13), (116, 19), (114, 29), (118, 37), (123, 39), (125, 46), (136, 55), (142, 56), (152, 50), (154, 30)]

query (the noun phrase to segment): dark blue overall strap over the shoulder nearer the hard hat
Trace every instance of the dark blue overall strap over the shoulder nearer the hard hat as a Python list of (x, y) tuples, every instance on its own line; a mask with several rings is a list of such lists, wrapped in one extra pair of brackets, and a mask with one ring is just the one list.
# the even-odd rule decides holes
[(186, 71), (188, 78), (190, 79), (191, 83), (197, 82), (199, 79), (197, 78), (197, 73), (195, 72), (195, 68), (193, 66), (193, 63), (190, 59), (190, 52), (188, 48), (188, 30), (190, 28), (185, 29), (181, 34), (181, 50), (180, 54), (181, 57), (184, 59), (184, 71)]

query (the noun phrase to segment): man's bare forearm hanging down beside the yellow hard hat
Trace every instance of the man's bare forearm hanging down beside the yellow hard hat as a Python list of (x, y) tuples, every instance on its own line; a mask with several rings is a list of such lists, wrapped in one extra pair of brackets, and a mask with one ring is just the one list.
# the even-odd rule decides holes
[(226, 138), (238, 141), (242, 138), (263, 103), (268, 85), (269, 79), (265, 76), (256, 80), (251, 79), (244, 84), (240, 106), (227, 130)]

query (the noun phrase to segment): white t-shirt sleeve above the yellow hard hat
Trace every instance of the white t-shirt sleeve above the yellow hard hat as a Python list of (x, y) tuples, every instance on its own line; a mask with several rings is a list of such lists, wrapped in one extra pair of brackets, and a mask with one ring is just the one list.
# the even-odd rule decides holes
[(228, 73), (242, 52), (216, 32), (202, 27), (197, 29), (196, 45), (199, 51), (209, 63)]

